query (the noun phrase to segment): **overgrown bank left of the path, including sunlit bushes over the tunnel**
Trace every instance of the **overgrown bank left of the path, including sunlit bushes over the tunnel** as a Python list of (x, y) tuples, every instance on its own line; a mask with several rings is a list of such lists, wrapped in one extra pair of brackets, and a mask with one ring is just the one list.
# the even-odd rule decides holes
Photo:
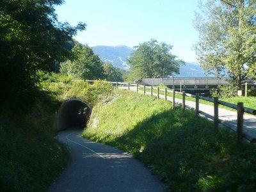
[(0, 191), (46, 191), (68, 162), (67, 146), (56, 140), (54, 118), (65, 99), (80, 97), (92, 106), (111, 99), (109, 84), (47, 76), (42, 93), (27, 115), (0, 116)]

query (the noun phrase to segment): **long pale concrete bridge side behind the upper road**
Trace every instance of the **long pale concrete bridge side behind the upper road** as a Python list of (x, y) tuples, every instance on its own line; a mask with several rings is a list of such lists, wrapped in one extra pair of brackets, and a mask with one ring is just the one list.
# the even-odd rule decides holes
[(182, 88), (182, 90), (211, 90), (212, 88), (218, 88), (220, 85), (228, 84), (225, 79), (217, 77), (144, 78), (142, 82), (145, 85), (164, 84), (170, 88)]

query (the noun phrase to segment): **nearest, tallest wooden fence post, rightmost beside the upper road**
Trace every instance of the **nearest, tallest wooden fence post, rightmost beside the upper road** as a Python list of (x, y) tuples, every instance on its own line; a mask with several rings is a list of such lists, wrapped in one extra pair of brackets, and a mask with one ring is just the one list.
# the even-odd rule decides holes
[(241, 147), (243, 141), (243, 116), (244, 116), (244, 103), (237, 103), (237, 145)]

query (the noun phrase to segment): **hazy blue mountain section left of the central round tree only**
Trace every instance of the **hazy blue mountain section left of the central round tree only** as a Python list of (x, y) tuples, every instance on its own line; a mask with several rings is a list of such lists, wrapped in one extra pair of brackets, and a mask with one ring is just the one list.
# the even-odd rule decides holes
[(92, 48), (95, 54), (98, 54), (103, 61), (109, 61), (118, 68), (129, 69), (126, 60), (134, 51), (131, 47), (125, 45), (118, 45), (115, 47), (99, 45)]

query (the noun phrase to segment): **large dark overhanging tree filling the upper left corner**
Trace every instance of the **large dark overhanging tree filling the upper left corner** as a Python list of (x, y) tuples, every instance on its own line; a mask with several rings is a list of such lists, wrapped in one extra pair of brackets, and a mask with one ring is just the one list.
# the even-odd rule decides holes
[(38, 72), (51, 71), (57, 60), (72, 58), (68, 42), (78, 30), (58, 22), (54, 6), (63, 0), (0, 0), (1, 110), (24, 111), (38, 93)]

